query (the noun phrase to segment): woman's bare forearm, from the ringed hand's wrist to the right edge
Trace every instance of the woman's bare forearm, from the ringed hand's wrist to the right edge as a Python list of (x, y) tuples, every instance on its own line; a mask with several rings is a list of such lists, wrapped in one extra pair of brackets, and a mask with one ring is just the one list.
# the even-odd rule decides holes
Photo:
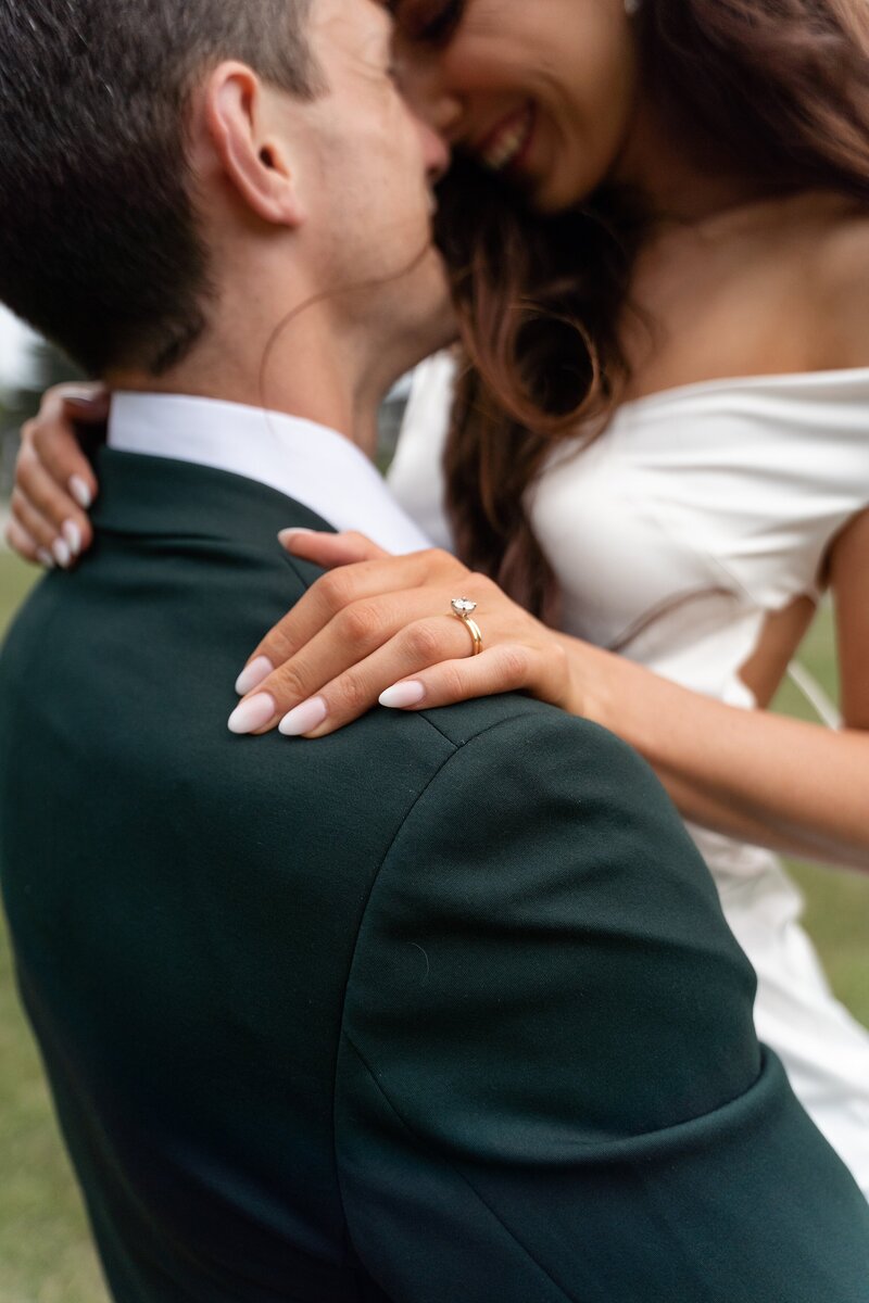
[(713, 701), (564, 638), (581, 713), (645, 756), (683, 817), (869, 872), (869, 734)]

